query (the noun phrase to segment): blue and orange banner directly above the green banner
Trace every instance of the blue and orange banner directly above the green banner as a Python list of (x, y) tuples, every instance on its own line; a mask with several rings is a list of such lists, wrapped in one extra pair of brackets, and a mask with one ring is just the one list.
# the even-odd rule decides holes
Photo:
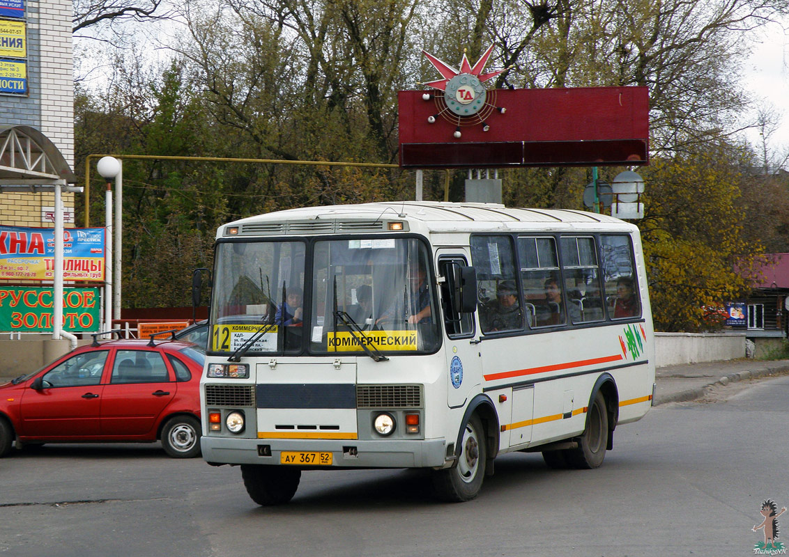
[[(63, 231), (63, 280), (104, 281), (104, 228)], [(0, 226), (0, 279), (53, 280), (54, 228)]]

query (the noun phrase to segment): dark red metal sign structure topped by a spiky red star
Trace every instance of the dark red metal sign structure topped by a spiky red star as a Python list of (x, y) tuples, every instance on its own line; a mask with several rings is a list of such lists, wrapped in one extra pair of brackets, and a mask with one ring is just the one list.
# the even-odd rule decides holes
[(647, 87), (486, 90), (490, 51), (460, 70), (425, 53), (444, 79), (398, 94), (402, 167), (649, 163)]

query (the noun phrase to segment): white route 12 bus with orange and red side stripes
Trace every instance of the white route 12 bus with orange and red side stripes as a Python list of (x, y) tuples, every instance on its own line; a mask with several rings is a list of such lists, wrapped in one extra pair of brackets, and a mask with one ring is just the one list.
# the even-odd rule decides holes
[(219, 228), (202, 451), (286, 503), (303, 470), (422, 467), (477, 496), (495, 457), (596, 468), (652, 406), (638, 228), (481, 203), (285, 210)]

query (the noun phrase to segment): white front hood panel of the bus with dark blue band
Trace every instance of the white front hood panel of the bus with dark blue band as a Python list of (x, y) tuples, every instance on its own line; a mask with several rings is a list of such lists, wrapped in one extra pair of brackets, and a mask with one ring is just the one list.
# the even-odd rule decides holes
[(272, 357), (256, 375), (259, 436), (356, 439), (354, 355)]

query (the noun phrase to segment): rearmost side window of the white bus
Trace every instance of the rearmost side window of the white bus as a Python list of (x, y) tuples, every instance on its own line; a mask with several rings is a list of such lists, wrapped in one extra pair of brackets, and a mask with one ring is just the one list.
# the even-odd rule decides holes
[(641, 303), (630, 236), (600, 236), (600, 259), (609, 317), (640, 317)]

